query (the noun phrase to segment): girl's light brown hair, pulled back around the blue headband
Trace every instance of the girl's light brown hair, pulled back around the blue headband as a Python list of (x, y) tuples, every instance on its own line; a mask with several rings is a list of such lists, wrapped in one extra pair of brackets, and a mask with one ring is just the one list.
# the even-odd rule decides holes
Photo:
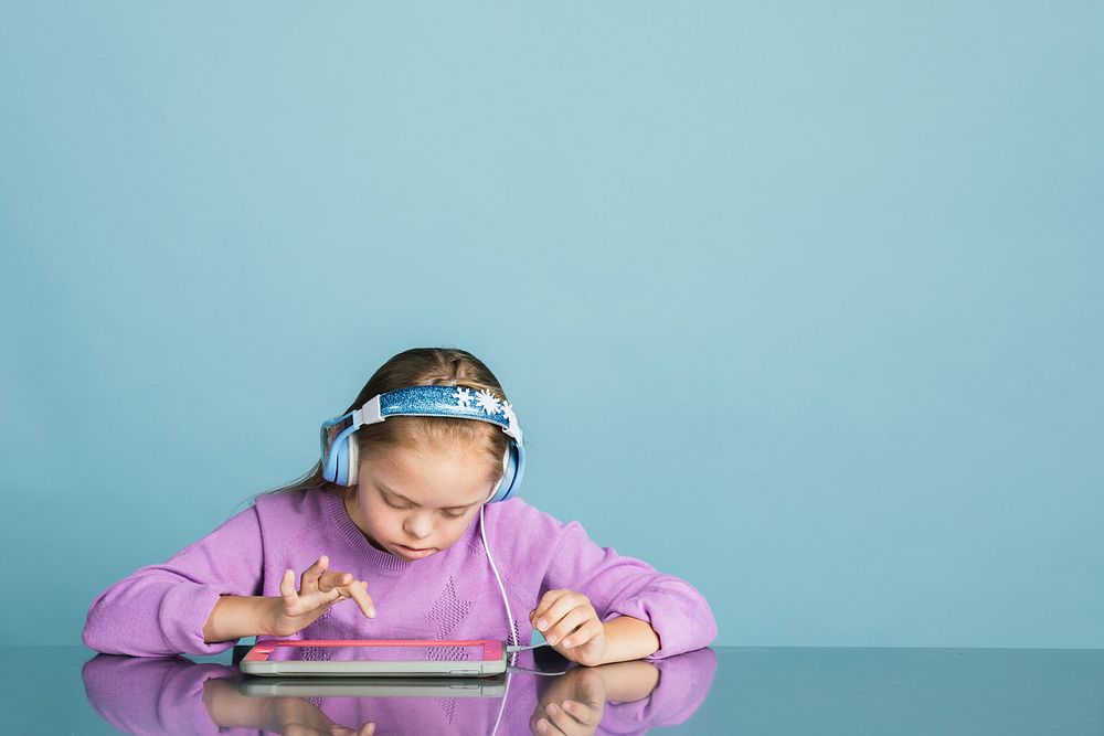
[[(360, 390), (353, 403), (341, 414), (360, 408), (368, 399), (389, 391), (406, 386), (442, 384), (488, 391), (496, 394), (500, 401), (507, 401), (506, 393), (495, 374), (468, 351), (456, 348), (412, 348), (381, 365)], [(385, 422), (361, 427), (353, 433), (351, 439), (357, 442), (361, 458), (369, 457), (373, 450), (389, 447), (417, 447), (443, 441), (465, 447), (475, 446), (487, 459), (488, 470), (497, 471), (499, 476), (502, 473), (502, 456), (510, 441), (501, 427), (487, 422), (424, 416), (390, 417)], [(322, 478), (322, 462), (319, 459), (299, 480), (266, 492), (289, 493), (312, 488), (338, 493), (351, 490), (349, 487)]]

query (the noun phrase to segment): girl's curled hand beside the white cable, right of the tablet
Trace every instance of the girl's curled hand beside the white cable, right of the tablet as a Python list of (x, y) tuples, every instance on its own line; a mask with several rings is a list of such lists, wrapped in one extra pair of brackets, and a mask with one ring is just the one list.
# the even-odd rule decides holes
[(606, 627), (591, 599), (574, 590), (549, 590), (529, 612), (529, 622), (549, 644), (572, 662), (602, 664)]

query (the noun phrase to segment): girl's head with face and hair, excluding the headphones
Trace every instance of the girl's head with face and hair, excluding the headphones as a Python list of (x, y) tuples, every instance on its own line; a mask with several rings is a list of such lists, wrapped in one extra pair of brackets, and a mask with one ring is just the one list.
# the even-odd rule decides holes
[[(460, 385), (506, 401), (495, 374), (471, 353), (415, 348), (399, 353), (369, 378), (346, 413), (407, 386)], [(350, 518), (378, 548), (407, 559), (426, 557), (458, 540), (502, 478), (509, 437), (487, 422), (392, 416), (352, 435), (357, 482), (330, 483), (321, 466), (279, 491), (325, 487), (340, 493)]]

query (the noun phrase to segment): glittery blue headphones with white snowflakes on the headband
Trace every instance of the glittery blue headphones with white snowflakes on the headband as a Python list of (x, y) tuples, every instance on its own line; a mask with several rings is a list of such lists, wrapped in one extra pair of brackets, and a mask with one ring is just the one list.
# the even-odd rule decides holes
[(408, 386), (373, 396), (359, 409), (322, 423), (322, 478), (339, 486), (357, 484), (357, 441), (352, 434), (364, 425), (389, 416), (438, 416), (479, 419), (502, 428), (510, 445), (502, 458), (502, 479), (491, 490), (488, 503), (512, 497), (526, 471), (521, 425), (509, 402), (489, 391), (465, 386)]

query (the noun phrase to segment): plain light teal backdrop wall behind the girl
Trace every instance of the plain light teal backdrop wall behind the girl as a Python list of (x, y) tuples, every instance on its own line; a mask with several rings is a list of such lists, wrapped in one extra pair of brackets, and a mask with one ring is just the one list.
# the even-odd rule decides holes
[(1104, 647), (1098, 2), (0, 3), (0, 644), (410, 346), (719, 644)]

